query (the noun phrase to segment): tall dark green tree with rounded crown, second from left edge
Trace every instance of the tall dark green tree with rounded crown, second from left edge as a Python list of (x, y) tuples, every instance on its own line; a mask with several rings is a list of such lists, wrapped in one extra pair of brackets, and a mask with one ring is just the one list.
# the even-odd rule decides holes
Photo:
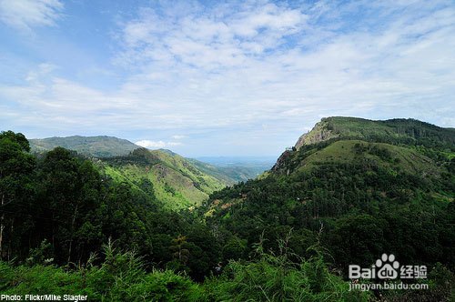
[[(101, 178), (93, 165), (62, 147), (49, 151), (41, 163), (40, 198), (36, 205), (60, 263), (87, 257), (92, 233), (99, 231), (96, 209)], [(41, 236), (45, 231), (37, 230)]]

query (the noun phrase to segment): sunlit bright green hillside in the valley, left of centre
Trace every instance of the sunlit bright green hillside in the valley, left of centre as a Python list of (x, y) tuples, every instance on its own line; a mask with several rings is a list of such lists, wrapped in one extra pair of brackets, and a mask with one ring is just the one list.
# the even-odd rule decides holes
[(136, 149), (129, 156), (104, 158), (107, 176), (141, 189), (149, 184), (157, 200), (170, 209), (197, 206), (216, 190), (221, 180), (197, 169), (186, 158), (163, 150)]

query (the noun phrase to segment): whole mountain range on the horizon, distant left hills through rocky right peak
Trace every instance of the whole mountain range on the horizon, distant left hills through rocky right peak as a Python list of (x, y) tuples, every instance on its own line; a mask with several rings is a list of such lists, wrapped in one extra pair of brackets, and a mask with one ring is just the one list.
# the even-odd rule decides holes
[[(426, 153), (434, 153), (431, 150), (436, 148), (451, 156), (454, 134), (453, 128), (413, 119), (323, 118), (298, 138), (293, 150), (279, 156), (271, 173), (289, 175), (296, 171), (311, 171), (318, 166), (356, 162), (359, 147), (357, 153), (352, 150), (368, 143), (369, 151), (362, 153), (363, 160), (407, 173), (437, 176), (440, 166), (435, 165)], [(266, 157), (202, 157), (200, 159), (204, 161), (201, 161), (178, 156), (166, 149), (147, 150), (114, 136), (49, 137), (29, 141), (34, 153), (62, 146), (84, 156), (96, 157), (106, 176), (132, 184), (137, 189), (147, 179), (153, 186), (154, 197), (169, 208), (199, 205), (211, 193), (260, 176), (273, 165)], [(308, 146), (318, 147), (316, 150)]]

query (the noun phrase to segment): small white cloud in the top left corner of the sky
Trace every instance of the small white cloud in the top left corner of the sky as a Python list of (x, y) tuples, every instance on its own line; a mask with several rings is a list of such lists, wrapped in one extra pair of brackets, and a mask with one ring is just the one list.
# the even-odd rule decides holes
[(0, 0), (0, 20), (20, 30), (56, 25), (63, 3), (59, 0)]

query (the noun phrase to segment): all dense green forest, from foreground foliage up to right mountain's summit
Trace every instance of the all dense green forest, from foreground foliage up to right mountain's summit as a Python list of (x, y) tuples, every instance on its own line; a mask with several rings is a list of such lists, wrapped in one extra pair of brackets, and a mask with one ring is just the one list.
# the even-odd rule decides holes
[[(324, 119), (264, 175), (181, 210), (163, 206), (147, 178), (133, 186), (106, 173), (119, 158), (100, 164), (63, 147), (35, 156), (25, 136), (2, 132), (0, 292), (95, 301), (453, 299), (452, 130)], [(347, 267), (369, 267), (382, 253), (429, 267), (430, 288), (349, 290)]]

